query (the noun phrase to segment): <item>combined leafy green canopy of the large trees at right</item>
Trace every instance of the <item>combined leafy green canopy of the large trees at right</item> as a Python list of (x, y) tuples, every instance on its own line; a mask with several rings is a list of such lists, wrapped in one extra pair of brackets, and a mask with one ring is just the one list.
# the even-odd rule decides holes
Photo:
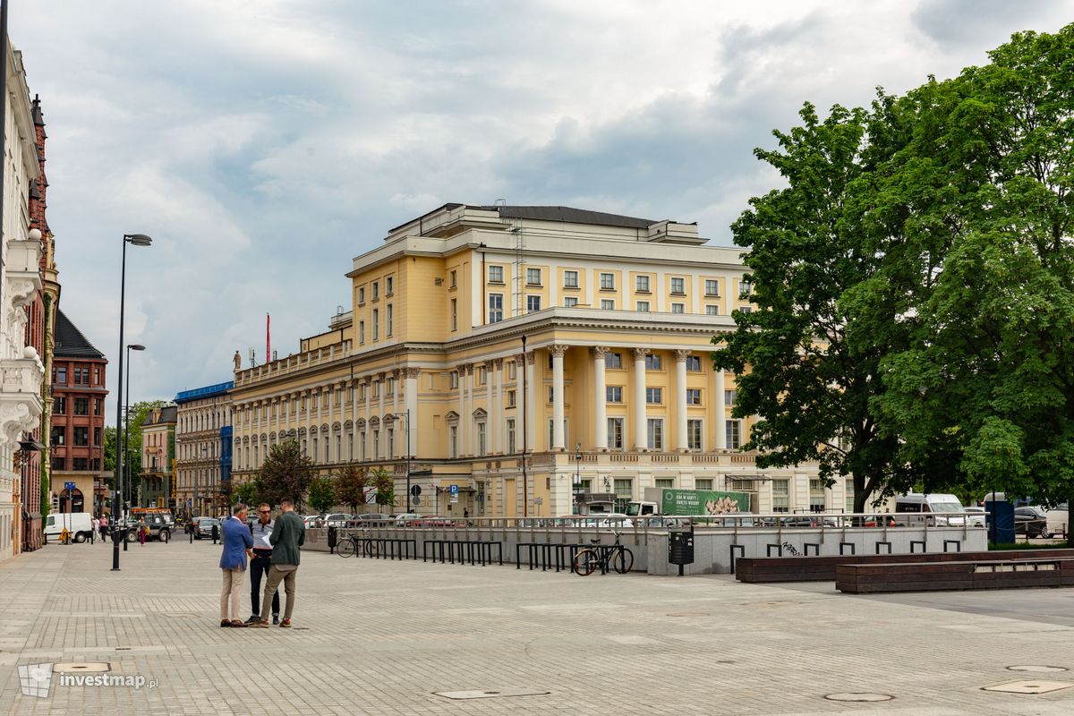
[(751, 298), (717, 336), (761, 467), (870, 496), (1074, 488), (1074, 26), (758, 149), (786, 186), (732, 225)]

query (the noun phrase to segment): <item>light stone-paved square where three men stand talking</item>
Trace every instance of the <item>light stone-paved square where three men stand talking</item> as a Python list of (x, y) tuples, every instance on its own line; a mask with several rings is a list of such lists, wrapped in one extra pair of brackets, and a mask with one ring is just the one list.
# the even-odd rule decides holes
[[(1074, 688), (983, 690), (1032, 677), (1008, 667), (1074, 682), (1074, 589), (966, 595), (963, 608), (960, 595), (307, 552), (293, 629), (221, 629), (219, 550), (135, 544), (118, 573), (101, 543), (0, 565), (0, 713), (1074, 713)], [(57, 667), (47, 696), (23, 692), (19, 666), (96, 662), (111, 671)], [(107, 675), (127, 678), (92, 681)], [(437, 696), (466, 691), (481, 698)], [(894, 698), (825, 699), (838, 693)]]

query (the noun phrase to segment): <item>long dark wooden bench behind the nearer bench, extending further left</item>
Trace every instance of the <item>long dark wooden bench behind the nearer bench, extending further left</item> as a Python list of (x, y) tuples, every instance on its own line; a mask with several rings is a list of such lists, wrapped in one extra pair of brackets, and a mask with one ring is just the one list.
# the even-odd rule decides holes
[(997, 559), (1070, 559), (1074, 550), (1010, 550), (1003, 552), (915, 552), (914, 554), (828, 555), (824, 557), (739, 557), (735, 578), (740, 582), (827, 582), (839, 565), (880, 565), (979, 561)]

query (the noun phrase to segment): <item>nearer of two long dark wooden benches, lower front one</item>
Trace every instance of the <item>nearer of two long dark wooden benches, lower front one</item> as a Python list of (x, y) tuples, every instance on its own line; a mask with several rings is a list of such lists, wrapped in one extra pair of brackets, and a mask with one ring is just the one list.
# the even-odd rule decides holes
[(836, 567), (836, 588), (846, 594), (1072, 585), (1072, 558), (894, 561)]

